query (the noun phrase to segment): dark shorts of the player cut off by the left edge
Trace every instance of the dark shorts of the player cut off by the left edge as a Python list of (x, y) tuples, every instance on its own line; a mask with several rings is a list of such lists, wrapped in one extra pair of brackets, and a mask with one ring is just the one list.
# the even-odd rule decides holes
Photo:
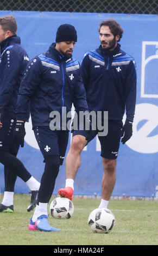
[(14, 141), (14, 129), (16, 120), (6, 115), (1, 115), (2, 128), (0, 129), (0, 151), (8, 151), (17, 155), (19, 144)]

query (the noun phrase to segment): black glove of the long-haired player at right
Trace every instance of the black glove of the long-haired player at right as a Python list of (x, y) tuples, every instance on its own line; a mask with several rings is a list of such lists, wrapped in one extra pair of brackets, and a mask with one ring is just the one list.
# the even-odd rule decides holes
[(121, 137), (123, 137), (121, 140), (122, 144), (127, 142), (131, 136), (132, 136), (132, 122), (126, 119), (125, 124), (123, 125), (121, 130)]

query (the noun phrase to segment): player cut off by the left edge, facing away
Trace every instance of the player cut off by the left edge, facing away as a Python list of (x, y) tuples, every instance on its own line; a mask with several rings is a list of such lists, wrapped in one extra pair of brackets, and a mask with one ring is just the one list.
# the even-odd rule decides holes
[[(31, 190), (28, 210), (37, 203), (40, 183), (36, 181), (16, 158), (18, 149), (24, 142), (14, 139), (16, 126), (16, 103), (21, 78), (28, 64), (27, 52), (21, 47), (21, 39), (16, 35), (17, 21), (13, 16), (0, 17), (0, 162), (4, 164), (5, 191), (0, 212), (14, 212), (13, 197), (17, 175)], [(29, 112), (27, 113), (29, 117)], [(18, 125), (18, 124), (17, 124)]]

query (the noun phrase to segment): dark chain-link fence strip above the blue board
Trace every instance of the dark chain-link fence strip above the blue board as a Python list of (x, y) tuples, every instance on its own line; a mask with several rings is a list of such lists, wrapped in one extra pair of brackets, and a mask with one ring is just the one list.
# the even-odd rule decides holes
[(158, 14), (155, 0), (1, 0), (0, 10)]

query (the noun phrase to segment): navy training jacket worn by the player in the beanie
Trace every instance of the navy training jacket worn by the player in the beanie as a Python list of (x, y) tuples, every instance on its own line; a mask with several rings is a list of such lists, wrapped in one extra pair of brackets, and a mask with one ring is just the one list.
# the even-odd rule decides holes
[(55, 44), (33, 58), (20, 86), (17, 120), (26, 121), (28, 102), (33, 127), (49, 126), (50, 112), (58, 111), (61, 117), (63, 107), (69, 112), (72, 103), (77, 111), (88, 110), (78, 60), (61, 56)]

